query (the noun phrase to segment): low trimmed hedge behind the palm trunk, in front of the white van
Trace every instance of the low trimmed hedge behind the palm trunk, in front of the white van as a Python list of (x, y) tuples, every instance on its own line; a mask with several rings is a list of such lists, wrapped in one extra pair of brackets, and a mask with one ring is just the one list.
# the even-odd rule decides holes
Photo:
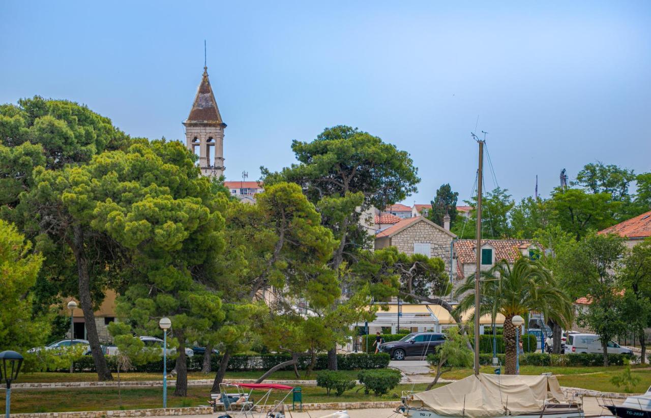
[[(505, 363), (505, 354), (497, 354), (500, 364)], [(621, 366), (626, 360), (631, 359), (628, 354), (608, 354), (608, 363), (613, 366)], [(430, 365), (436, 366), (439, 363), (437, 354), (427, 356)], [(523, 366), (560, 366), (560, 367), (587, 367), (602, 366), (602, 354), (547, 354), (547, 353), (525, 353), (519, 356), (520, 365)], [(492, 354), (479, 354), (479, 364), (490, 366), (493, 364)]]

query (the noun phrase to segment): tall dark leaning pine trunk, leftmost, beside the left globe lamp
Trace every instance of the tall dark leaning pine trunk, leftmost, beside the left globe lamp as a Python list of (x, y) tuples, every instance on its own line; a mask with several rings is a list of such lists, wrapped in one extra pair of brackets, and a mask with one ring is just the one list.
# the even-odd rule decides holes
[(95, 363), (97, 378), (100, 382), (113, 380), (113, 375), (106, 364), (106, 358), (102, 352), (100, 338), (97, 335), (97, 326), (95, 324), (95, 314), (92, 309), (92, 298), (90, 297), (90, 276), (89, 263), (86, 257), (84, 246), (84, 234), (81, 225), (76, 224), (73, 227), (74, 238), (72, 241), (72, 252), (77, 262), (77, 276), (79, 276), (79, 307), (83, 311), (83, 319), (86, 326), (86, 337), (90, 345), (92, 361)]

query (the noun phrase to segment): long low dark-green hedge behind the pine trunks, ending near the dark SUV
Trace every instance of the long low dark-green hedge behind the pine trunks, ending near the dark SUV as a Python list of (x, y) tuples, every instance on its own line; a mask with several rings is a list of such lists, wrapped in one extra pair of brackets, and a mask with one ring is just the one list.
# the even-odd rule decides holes
[[(292, 359), (290, 354), (257, 354), (255, 356), (249, 354), (235, 354), (230, 357), (229, 371), (266, 371), (271, 367)], [(298, 369), (305, 370), (310, 364), (310, 355), (300, 354), (298, 357)], [(339, 370), (359, 370), (359, 369), (384, 369), (389, 365), (389, 354), (337, 354), (337, 366)], [(117, 370), (115, 358), (113, 356), (106, 356), (106, 361), (109, 369), (112, 371)], [(213, 370), (219, 368), (219, 361), (221, 356), (212, 355), (210, 365)], [(192, 356), (187, 358), (188, 371), (201, 371), (203, 363), (203, 356)], [(175, 359), (167, 359), (167, 370), (174, 369), (176, 365)], [(284, 367), (281, 370), (293, 370), (293, 366)], [(327, 369), (327, 354), (318, 354), (316, 356), (316, 365), (314, 370)], [(76, 372), (93, 372), (95, 365), (92, 361), (92, 356), (83, 356), (74, 362), (74, 370)], [(163, 359), (147, 363), (145, 365), (136, 366), (132, 369), (134, 372), (163, 372)]]

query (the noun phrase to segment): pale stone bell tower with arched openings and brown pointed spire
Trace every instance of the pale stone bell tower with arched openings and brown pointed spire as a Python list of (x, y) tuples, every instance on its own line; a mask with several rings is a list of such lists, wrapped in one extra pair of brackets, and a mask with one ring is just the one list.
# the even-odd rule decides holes
[(186, 122), (187, 149), (199, 156), (199, 168), (203, 176), (219, 177), (224, 174), (224, 128), (215, 95), (212, 94), (208, 67), (204, 67), (203, 77), (195, 102)]

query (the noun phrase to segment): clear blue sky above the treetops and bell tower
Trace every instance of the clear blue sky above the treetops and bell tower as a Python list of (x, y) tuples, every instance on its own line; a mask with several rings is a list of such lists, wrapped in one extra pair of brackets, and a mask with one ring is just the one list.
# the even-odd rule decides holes
[(133, 137), (184, 140), (204, 64), (227, 179), (294, 163), (294, 139), (359, 127), (408, 151), (429, 203), (541, 196), (583, 165), (651, 171), (650, 1), (0, 3), (0, 103), (70, 99)]

